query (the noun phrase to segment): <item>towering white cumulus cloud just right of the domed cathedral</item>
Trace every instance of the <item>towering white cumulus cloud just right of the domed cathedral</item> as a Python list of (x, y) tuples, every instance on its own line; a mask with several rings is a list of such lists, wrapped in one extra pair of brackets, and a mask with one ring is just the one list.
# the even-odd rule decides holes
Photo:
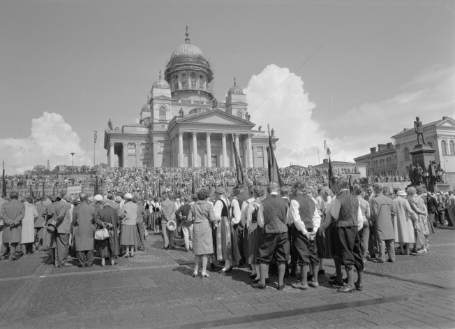
[(321, 161), (324, 131), (311, 119), (316, 104), (304, 90), (304, 81), (288, 68), (270, 64), (258, 75), (253, 75), (244, 89), (251, 121), (274, 129), (280, 140), (276, 144), (276, 160), (280, 166), (318, 164), (318, 147)]

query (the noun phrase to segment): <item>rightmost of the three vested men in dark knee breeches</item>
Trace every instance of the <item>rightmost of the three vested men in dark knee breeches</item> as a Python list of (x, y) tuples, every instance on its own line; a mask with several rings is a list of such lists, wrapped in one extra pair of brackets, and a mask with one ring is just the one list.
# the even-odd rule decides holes
[[(349, 191), (349, 182), (341, 177), (336, 181), (336, 190), (339, 191), (332, 201), (331, 218), (335, 221), (334, 228), (334, 257), (336, 263), (336, 279), (331, 284), (340, 285), (338, 292), (350, 293), (362, 290), (364, 275), (364, 261), (359, 246), (359, 230), (363, 227), (364, 218), (357, 197)], [(348, 286), (343, 287), (343, 273), (341, 266), (345, 266), (348, 274)], [(357, 269), (357, 282), (354, 283), (354, 266)]]

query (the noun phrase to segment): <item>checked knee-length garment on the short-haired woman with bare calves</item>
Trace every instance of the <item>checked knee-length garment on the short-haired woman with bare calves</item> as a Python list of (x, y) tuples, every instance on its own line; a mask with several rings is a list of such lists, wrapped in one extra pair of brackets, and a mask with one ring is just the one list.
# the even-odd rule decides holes
[(206, 200), (197, 200), (191, 205), (187, 221), (193, 224), (193, 254), (213, 254), (214, 243), (211, 230), (215, 221), (215, 214), (211, 204)]

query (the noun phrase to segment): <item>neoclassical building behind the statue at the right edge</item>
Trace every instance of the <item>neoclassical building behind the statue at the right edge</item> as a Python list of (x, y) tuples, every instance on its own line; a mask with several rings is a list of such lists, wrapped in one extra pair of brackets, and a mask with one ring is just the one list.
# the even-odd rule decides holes
[[(447, 173), (455, 172), (455, 120), (442, 117), (434, 122), (424, 124), (425, 142), (435, 149), (436, 163)], [(391, 136), (391, 142), (379, 144), (378, 149), (371, 147), (370, 153), (354, 159), (357, 163), (367, 164), (369, 176), (408, 175), (412, 163), (410, 152), (417, 146), (417, 135), (414, 128), (405, 128)], [(428, 168), (429, 163), (420, 163)]]

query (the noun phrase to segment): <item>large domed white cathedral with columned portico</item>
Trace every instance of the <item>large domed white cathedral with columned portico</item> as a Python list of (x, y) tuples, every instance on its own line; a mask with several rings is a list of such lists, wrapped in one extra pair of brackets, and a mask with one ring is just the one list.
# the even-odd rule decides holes
[[(151, 87), (140, 122), (105, 130), (107, 163), (229, 167), (235, 166), (236, 145), (244, 167), (267, 166), (268, 134), (253, 129), (247, 108), (246, 95), (235, 78), (225, 103), (216, 101), (211, 62), (190, 43), (187, 30), (185, 43), (172, 52), (163, 77), (160, 72)], [(277, 140), (272, 137), (274, 148)]]

